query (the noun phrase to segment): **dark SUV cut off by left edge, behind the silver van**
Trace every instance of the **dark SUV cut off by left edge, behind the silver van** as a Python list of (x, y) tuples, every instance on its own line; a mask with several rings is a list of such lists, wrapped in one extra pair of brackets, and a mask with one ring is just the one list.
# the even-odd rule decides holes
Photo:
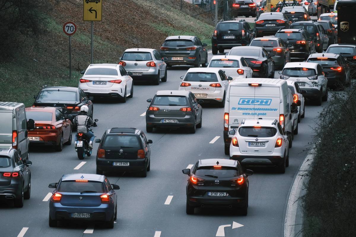
[(23, 199), (30, 199), (30, 160), (23, 160), (14, 148), (0, 149), (0, 200), (12, 199), (15, 207), (23, 206)]

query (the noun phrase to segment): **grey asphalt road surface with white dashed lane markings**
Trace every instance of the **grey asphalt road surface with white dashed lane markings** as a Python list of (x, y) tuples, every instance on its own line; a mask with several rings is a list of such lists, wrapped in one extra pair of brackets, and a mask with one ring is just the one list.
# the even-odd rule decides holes
[[(209, 53), (210, 58), (211, 56)], [(158, 86), (135, 84), (133, 98), (127, 99), (125, 104), (94, 101), (94, 118), (99, 119), (98, 127), (93, 128), (95, 135), (100, 138), (104, 131), (111, 127), (135, 127), (146, 132), (146, 100), (152, 98), (157, 90), (178, 89), (179, 77), (184, 75), (188, 68), (170, 68), (167, 82), (161, 82)], [(278, 76), (276, 70), (275, 78)], [(326, 103), (323, 102), (323, 106)], [(97, 143), (93, 155), (85, 157), (84, 160), (77, 158), (74, 144), (64, 146), (62, 152), (49, 148), (32, 149), (31, 199), (25, 200), (22, 208), (9, 206), (10, 202), (0, 204), (0, 236), (210, 237), (224, 236), (222, 227), (218, 232), (221, 225), (227, 225), (224, 231), (226, 237), (282, 236), (288, 190), (306, 155), (305, 150), (310, 147), (314, 119), (322, 107), (307, 104), (305, 109), (305, 118), (299, 123), (299, 134), (295, 136), (293, 148), (290, 150), (286, 173), (277, 174), (273, 169), (254, 169), (255, 174), (249, 177), (247, 216), (221, 209), (196, 209), (194, 215), (185, 213), (185, 186), (188, 176), (182, 174), (182, 169), (192, 166), (198, 159), (229, 158), (224, 154), (222, 138), (224, 109), (203, 106), (203, 127), (198, 128), (195, 134), (184, 130), (146, 133), (147, 138), (153, 140), (151, 171), (148, 172), (147, 178), (127, 173), (105, 174), (110, 183), (120, 185), (121, 188), (116, 192), (118, 208), (114, 229), (106, 229), (99, 224), (88, 226), (77, 223), (56, 228), (48, 226), (48, 199), (52, 191), (48, 184), (58, 182), (63, 174), (95, 173)]]

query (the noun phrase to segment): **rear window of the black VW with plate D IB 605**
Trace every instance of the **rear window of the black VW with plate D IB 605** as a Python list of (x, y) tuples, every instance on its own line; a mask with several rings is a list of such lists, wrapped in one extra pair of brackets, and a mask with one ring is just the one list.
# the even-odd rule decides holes
[(141, 147), (136, 136), (109, 135), (106, 136), (103, 147), (137, 148)]

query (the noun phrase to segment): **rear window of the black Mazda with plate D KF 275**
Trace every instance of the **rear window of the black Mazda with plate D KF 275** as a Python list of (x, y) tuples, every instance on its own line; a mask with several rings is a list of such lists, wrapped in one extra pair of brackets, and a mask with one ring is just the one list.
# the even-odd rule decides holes
[(201, 177), (209, 178), (232, 178), (239, 176), (239, 171), (235, 167), (226, 167), (226, 166), (203, 166), (199, 167), (195, 172), (195, 175)]

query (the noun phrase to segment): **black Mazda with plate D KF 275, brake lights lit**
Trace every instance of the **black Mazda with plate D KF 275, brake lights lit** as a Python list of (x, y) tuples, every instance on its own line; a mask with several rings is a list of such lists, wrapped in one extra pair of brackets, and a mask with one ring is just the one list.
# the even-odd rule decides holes
[(223, 206), (235, 211), (241, 209), (247, 215), (248, 179), (252, 170), (242, 171), (237, 160), (198, 160), (190, 169), (183, 169), (189, 175), (187, 184), (187, 214), (194, 214), (195, 207)]

